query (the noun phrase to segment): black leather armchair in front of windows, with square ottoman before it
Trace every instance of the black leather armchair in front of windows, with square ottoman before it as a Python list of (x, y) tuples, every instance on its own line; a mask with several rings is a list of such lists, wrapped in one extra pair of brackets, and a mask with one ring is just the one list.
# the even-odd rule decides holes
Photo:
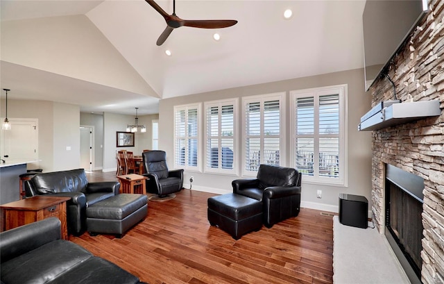
[(260, 165), (257, 178), (232, 181), (233, 193), (262, 201), (264, 225), (296, 217), (300, 210), (301, 174), (289, 167)]

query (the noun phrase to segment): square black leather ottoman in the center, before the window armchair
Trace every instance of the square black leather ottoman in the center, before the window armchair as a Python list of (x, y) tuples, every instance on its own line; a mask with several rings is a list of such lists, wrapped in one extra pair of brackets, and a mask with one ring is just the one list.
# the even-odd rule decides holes
[(210, 197), (208, 221), (239, 240), (262, 228), (262, 202), (234, 193)]

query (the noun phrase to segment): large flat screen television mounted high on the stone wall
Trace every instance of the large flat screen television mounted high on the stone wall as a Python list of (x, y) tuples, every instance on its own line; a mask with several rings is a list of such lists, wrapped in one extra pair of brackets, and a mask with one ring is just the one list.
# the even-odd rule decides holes
[(367, 0), (362, 14), (366, 91), (427, 13), (427, 0)]

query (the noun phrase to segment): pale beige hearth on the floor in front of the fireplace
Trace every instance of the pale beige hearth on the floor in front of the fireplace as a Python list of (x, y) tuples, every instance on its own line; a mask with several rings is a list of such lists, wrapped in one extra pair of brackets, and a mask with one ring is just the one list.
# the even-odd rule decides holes
[(404, 284), (410, 281), (386, 237), (376, 228), (345, 226), (334, 216), (333, 283)]

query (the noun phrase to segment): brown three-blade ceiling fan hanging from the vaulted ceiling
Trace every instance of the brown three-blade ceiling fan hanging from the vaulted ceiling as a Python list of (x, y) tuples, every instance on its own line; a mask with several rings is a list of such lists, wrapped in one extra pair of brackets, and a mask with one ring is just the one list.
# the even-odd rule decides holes
[(180, 19), (180, 17), (176, 16), (176, 0), (173, 0), (173, 14), (168, 15), (162, 8), (160, 8), (157, 3), (153, 0), (145, 0), (148, 4), (150, 4), (154, 10), (159, 12), (162, 17), (164, 17), (167, 22), (167, 28), (165, 28), (164, 32), (157, 39), (156, 44), (158, 46), (162, 45), (169, 34), (173, 31), (174, 28), (180, 28), (181, 26), (190, 26), (192, 28), (228, 28), (229, 26), (234, 26), (237, 24), (237, 21), (234, 19)]

